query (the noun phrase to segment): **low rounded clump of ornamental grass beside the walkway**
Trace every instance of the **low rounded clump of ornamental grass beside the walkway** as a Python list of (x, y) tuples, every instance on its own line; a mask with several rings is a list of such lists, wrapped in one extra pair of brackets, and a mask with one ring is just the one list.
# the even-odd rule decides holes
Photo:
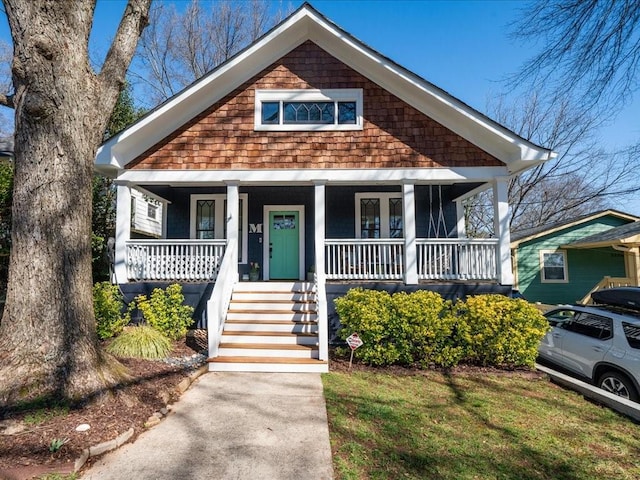
[(171, 341), (149, 325), (138, 325), (125, 328), (107, 351), (124, 358), (165, 358), (171, 351)]

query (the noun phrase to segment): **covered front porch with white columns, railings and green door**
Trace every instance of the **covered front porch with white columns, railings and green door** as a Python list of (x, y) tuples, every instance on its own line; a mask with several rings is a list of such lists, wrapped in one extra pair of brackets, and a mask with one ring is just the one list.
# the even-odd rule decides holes
[[(264, 281), (510, 285), (506, 186), (493, 187), (498, 235), (477, 239), (464, 229), (471, 186), (125, 183), (118, 186), (115, 280), (215, 282), (234, 240), (239, 280), (259, 266)], [(161, 238), (134, 228), (132, 213), (139, 216), (140, 207), (132, 192), (139, 191), (161, 210)]]

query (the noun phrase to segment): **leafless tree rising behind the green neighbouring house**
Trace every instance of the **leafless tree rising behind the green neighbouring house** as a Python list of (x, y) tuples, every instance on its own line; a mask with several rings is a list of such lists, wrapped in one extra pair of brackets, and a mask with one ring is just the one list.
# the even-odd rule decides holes
[[(612, 198), (637, 192), (638, 147), (608, 153), (597, 143), (598, 121), (576, 108), (570, 99), (552, 100), (534, 92), (507, 105), (497, 97), (490, 115), (521, 137), (558, 152), (555, 159), (538, 165), (509, 184), (511, 230), (517, 231), (564, 221), (604, 208)], [(489, 192), (465, 205), (467, 234), (493, 233)]]

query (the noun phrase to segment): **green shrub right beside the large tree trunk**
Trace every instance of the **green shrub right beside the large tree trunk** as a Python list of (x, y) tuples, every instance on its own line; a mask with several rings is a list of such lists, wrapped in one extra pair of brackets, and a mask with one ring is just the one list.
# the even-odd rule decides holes
[(104, 340), (122, 332), (131, 321), (129, 313), (122, 314), (123, 308), (124, 299), (117, 285), (100, 282), (93, 286), (93, 309), (98, 337)]

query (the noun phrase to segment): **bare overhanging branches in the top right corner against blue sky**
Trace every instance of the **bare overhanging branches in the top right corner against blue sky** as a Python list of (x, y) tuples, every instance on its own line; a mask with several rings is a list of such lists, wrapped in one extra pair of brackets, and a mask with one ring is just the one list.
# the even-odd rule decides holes
[(610, 117), (637, 91), (640, 2), (637, 0), (537, 0), (514, 25), (513, 36), (542, 44), (510, 79), (512, 87), (545, 85), (562, 98)]

